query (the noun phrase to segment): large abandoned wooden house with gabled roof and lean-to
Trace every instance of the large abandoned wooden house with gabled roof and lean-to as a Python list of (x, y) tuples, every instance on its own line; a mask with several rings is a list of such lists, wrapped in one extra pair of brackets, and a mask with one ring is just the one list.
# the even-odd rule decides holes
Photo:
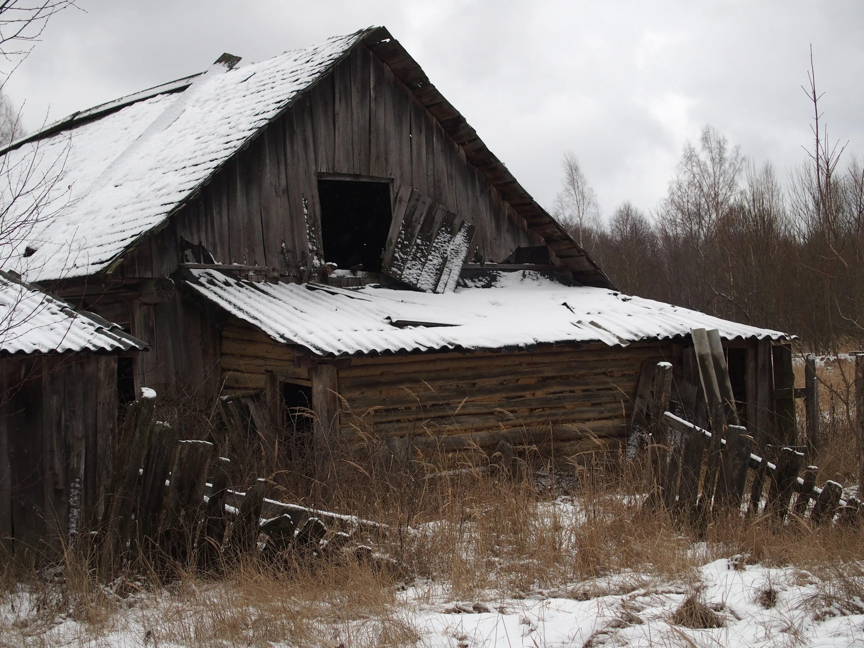
[(149, 344), (132, 375), (163, 398), (242, 395), (285, 435), (311, 403), (325, 441), (418, 455), (574, 454), (624, 438), (658, 359), (692, 406), (692, 327), (720, 331), (752, 429), (793, 397), (787, 335), (619, 294), (383, 28), (224, 54), (3, 155), (37, 150), (66, 152), (71, 200), (7, 267)]

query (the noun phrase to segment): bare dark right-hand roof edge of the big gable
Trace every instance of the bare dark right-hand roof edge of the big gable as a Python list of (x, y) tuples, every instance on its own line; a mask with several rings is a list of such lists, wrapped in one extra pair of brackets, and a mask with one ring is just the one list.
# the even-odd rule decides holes
[(530, 230), (543, 237), (546, 245), (573, 272), (576, 281), (598, 288), (614, 288), (612, 281), (588, 252), (519, 184), (504, 162), (489, 150), (467, 119), (429, 81), (422, 67), (386, 28), (370, 30), (363, 38), (363, 43), (409, 87), (444, 131), (461, 146), (468, 162), (486, 176), (486, 180), (525, 220)]

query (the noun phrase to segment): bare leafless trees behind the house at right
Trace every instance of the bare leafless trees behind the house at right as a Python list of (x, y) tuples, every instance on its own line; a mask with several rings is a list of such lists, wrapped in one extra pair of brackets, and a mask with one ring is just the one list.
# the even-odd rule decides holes
[[(818, 127), (818, 124), (816, 124)], [(787, 181), (706, 126), (650, 217), (629, 202), (606, 223), (575, 156), (554, 212), (632, 293), (797, 334), (834, 351), (864, 340), (864, 168), (815, 130)]]

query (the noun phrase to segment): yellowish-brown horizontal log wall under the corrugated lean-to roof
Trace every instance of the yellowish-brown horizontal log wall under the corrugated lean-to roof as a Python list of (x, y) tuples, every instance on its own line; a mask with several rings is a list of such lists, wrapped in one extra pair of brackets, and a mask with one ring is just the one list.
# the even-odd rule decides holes
[[(671, 359), (667, 344), (548, 346), (520, 353), (424, 353), (353, 358), (337, 371), (343, 400), (339, 435), (415, 437), (416, 448), (493, 447), (548, 442), (562, 452), (623, 441), (646, 359)], [(226, 391), (263, 391), (267, 372), (294, 381), (314, 375), (295, 367), (288, 346), (232, 320), (222, 332)], [(594, 435), (599, 444), (587, 441)]]

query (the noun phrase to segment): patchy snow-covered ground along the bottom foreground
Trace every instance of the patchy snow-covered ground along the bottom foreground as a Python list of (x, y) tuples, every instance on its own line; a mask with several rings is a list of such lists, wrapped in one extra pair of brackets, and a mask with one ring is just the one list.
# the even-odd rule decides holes
[[(864, 645), (864, 602), (855, 596), (826, 597), (832, 587), (807, 572), (748, 565), (744, 557), (734, 556), (704, 564), (687, 582), (621, 574), (519, 598), (448, 600), (441, 583), (418, 581), (398, 592), (387, 619), (403, 628), (399, 643), (430, 648)], [(712, 610), (721, 627), (676, 624), (676, 610), (692, 594)], [(193, 598), (202, 595), (206, 599), (203, 592)], [(187, 597), (188, 593), (139, 594), (119, 605), (104, 630), (93, 636), (64, 614), (40, 631), (28, 632), (26, 619), (35, 601), (18, 594), (7, 597), (3, 605), (5, 618), (0, 622), (11, 632), (3, 631), (0, 645), (188, 645), (187, 639), (171, 632), (178, 622), (179, 603), (173, 600), (183, 599), (186, 613), (195, 613)], [(255, 616), (251, 613), (250, 619)], [(385, 640), (368, 632), (377, 620), (310, 619), (316, 631), (300, 645), (394, 645), (392, 636)], [(239, 645), (236, 637), (193, 643)], [(242, 645), (259, 644), (252, 640)], [(294, 644), (270, 640), (264, 645)]]

